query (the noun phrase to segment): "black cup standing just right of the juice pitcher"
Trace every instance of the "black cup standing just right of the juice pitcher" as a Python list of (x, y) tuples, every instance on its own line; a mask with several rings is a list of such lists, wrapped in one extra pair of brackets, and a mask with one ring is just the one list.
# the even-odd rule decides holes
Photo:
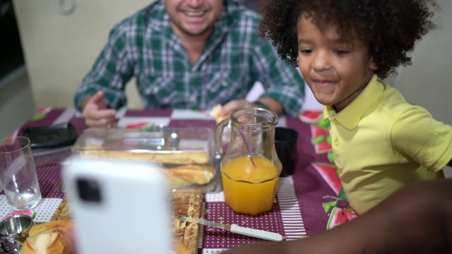
[(275, 128), (275, 150), (283, 164), (280, 176), (291, 176), (297, 162), (298, 133), (292, 128)]

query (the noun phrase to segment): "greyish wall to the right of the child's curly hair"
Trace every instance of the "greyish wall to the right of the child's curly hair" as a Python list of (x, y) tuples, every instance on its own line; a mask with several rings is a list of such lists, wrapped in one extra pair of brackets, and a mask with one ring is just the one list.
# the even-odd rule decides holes
[(412, 54), (412, 66), (395, 78), (405, 99), (428, 109), (435, 119), (452, 124), (452, 1), (438, 0), (438, 28), (429, 32)]

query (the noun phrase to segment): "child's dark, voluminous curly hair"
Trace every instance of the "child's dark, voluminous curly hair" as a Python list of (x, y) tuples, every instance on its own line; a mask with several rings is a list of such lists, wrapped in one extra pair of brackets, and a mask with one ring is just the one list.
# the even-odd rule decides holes
[(394, 73), (400, 64), (408, 66), (407, 56), (429, 30), (435, 0), (261, 0), (261, 37), (272, 40), (281, 59), (297, 67), (297, 21), (307, 14), (321, 30), (336, 25), (342, 36), (356, 32), (369, 46), (379, 78)]

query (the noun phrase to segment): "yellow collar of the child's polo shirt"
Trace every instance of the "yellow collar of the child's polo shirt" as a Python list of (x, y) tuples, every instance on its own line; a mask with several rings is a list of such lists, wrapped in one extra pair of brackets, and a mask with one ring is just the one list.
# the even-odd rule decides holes
[(334, 117), (340, 125), (348, 130), (355, 128), (364, 113), (376, 102), (383, 93), (384, 87), (377, 80), (377, 75), (373, 75), (369, 84), (364, 87), (364, 90), (347, 106), (345, 109), (336, 113), (333, 106), (323, 107), (323, 118), (327, 119)]

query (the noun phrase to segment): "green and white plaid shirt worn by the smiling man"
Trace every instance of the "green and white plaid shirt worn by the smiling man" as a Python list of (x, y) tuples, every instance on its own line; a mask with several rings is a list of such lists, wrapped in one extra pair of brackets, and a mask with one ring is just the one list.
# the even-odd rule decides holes
[(76, 107), (99, 90), (105, 91), (108, 107), (123, 107), (124, 86), (133, 76), (147, 109), (211, 109), (244, 99), (260, 81), (265, 88), (262, 97), (278, 100), (288, 115), (297, 116), (304, 80), (261, 40), (260, 18), (237, 1), (226, 0), (206, 47), (192, 64), (169, 25), (165, 6), (155, 1), (112, 28), (76, 92)]

